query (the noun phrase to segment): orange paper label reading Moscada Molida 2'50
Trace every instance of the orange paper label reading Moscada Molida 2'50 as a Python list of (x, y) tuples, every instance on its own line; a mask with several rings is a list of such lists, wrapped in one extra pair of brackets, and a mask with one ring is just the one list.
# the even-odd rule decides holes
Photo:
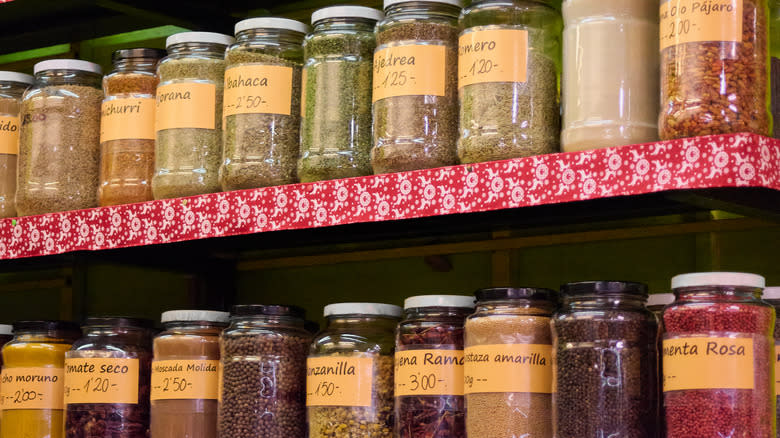
[(155, 360), (152, 400), (217, 400), (218, 360)]

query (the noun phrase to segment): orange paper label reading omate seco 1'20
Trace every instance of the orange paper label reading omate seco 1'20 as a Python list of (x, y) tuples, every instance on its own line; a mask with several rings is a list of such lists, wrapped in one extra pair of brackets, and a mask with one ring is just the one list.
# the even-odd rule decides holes
[(138, 403), (138, 359), (65, 359), (65, 404)]

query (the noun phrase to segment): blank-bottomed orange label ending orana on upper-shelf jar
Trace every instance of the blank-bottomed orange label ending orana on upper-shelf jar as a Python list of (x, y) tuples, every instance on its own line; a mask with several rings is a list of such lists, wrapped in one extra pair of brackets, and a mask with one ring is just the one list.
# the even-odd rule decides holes
[(204, 82), (176, 82), (157, 87), (156, 130), (215, 129), (217, 87)]

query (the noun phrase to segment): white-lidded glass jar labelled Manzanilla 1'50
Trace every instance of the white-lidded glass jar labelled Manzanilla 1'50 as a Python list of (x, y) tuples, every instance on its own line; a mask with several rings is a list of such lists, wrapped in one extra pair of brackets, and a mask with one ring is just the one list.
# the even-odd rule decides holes
[(309, 438), (393, 437), (393, 349), (401, 308), (325, 306), (306, 361)]

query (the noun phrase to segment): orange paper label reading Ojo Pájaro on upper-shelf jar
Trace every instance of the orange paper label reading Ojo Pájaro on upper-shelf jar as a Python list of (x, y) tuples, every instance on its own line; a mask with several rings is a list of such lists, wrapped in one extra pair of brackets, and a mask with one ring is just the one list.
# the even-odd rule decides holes
[(661, 50), (703, 41), (742, 41), (743, 0), (662, 0)]

